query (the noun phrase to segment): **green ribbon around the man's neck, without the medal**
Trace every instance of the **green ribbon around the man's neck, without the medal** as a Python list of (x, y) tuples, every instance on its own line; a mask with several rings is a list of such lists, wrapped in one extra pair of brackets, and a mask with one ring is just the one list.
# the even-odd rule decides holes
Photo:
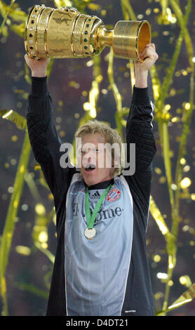
[(102, 203), (104, 202), (104, 199), (111, 187), (112, 187), (112, 184), (109, 185), (107, 187), (107, 189), (101, 194), (100, 199), (98, 200), (97, 204), (95, 205), (95, 209), (93, 210), (92, 216), (90, 215), (90, 208), (89, 208), (88, 187), (86, 187), (85, 208), (86, 208), (86, 218), (87, 218), (88, 229), (93, 229), (93, 225), (95, 223), (95, 218), (97, 216), (97, 212), (100, 211), (100, 207), (102, 206)]

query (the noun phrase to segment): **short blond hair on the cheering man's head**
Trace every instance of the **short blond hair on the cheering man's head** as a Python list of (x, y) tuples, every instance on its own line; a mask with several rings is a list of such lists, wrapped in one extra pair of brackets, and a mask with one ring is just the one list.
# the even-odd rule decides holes
[(81, 138), (82, 136), (86, 136), (88, 134), (99, 133), (101, 136), (105, 137), (106, 143), (110, 145), (114, 145), (117, 143), (119, 145), (120, 154), (115, 154), (115, 151), (112, 149), (112, 161), (114, 161), (114, 157), (116, 157), (119, 162), (117, 167), (114, 167), (114, 176), (121, 174), (122, 171), (122, 161), (121, 161), (121, 145), (122, 140), (119, 133), (114, 129), (109, 127), (107, 124), (102, 123), (97, 120), (87, 121), (86, 124), (83, 124), (79, 127), (79, 129), (75, 133), (75, 138)]

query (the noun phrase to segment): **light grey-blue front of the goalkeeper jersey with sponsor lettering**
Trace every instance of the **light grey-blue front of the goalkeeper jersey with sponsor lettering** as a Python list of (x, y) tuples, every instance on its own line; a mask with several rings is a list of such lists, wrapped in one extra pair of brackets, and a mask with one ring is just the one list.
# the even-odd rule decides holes
[[(89, 190), (90, 211), (104, 189)], [(85, 184), (74, 174), (67, 194), (65, 283), (67, 315), (121, 315), (133, 237), (133, 200), (123, 176), (114, 178), (87, 239)]]

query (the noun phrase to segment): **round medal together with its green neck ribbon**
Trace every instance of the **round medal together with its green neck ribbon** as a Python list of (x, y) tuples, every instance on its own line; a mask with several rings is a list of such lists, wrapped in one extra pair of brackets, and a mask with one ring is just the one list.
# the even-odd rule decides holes
[(99, 201), (97, 202), (97, 204), (95, 205), (95, 209), (93, 210), (93, 214), (92, 216), (90, 216), (90, 208), (89, 208), (89, 197), (88, 197), (88, 187), (86, 187), (86, 199), (85, 199), (85, 207), (86, 207), (86, 219), (87, 219), (87, 224), (88, 227), (85, 230), (85, 236), (88, 239), (93, 239), (93, 237), (95, 237), (96, 234), (96, 230), (93, 227), (94, 223), (95, 223), (95, 218), (97, 216), (97, 212), (100, 210), (100, 207), (102, 205), (102, 203), (104, 202), (104, 199), (107, 195), (107, 193), (109, 192), (110, 188), (112, 187), (112, 184), (109, 185), (107, 187), (107, 189), (102, 193), (102, 195), (100, 196)]

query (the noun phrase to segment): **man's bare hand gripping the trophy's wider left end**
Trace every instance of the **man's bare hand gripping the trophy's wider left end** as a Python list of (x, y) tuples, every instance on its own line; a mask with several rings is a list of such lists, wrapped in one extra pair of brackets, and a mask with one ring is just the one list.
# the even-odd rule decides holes
[(46, 77), (50, 58), (34, 60), (25, 54), (25, 61), (32, 72), (32, 77)]

